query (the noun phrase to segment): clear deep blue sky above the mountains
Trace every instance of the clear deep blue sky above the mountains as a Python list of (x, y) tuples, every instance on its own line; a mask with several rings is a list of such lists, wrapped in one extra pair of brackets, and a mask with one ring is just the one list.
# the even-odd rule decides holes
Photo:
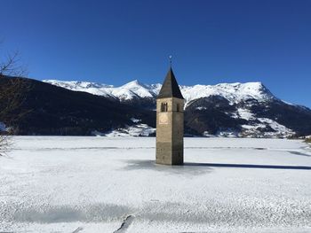
[(263, 82), (311, 107), (311, 0), (2, 0), (2, 51), (29, 77), (121, 85)]

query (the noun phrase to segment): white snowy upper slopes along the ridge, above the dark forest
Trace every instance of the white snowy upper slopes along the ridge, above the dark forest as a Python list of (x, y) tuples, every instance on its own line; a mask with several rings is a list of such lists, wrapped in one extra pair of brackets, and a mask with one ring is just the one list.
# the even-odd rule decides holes
[[(151, 85), (142, 84), (137, 80), (128, 82), (120, 87), (96, 82), (66, 82), (56, 80), (44, 80), (44, 82), (66, 89), (85, 91), (105, 97), (114, 97), (120, 99), (120, 101), (131, 100), (135, 97), (156, 97), (162, 86), (159, 83)], [(180, 86), (180, 90), (183, 97), (186, 99), (186, 103), (200, 97), (210, 97), (213, 95), (225, 97), (232, 104), (251, 98), (257, 99), (258, 101), (266, 101), (275, 98), (261, 82)]]

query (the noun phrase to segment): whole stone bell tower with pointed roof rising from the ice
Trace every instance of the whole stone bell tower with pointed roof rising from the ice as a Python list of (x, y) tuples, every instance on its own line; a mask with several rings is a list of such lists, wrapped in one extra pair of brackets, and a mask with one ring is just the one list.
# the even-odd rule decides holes
[(156, 97), (156, 163), (184, 163), (184, 97), (171, 67)]

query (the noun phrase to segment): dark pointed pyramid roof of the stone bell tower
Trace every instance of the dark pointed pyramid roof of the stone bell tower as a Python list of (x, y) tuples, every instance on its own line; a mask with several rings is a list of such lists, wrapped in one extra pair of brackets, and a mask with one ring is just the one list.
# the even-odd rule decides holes
[(165, 98), (165, 97), (177, 97), (182, 99), (184, 98), (181, 95), (179, 84), (176, 81), (175, 75), (172, 72), (171, 67), (169, 72), (166, 74), (162, 88), (159, 92), (159, 95), (156, 98)]

